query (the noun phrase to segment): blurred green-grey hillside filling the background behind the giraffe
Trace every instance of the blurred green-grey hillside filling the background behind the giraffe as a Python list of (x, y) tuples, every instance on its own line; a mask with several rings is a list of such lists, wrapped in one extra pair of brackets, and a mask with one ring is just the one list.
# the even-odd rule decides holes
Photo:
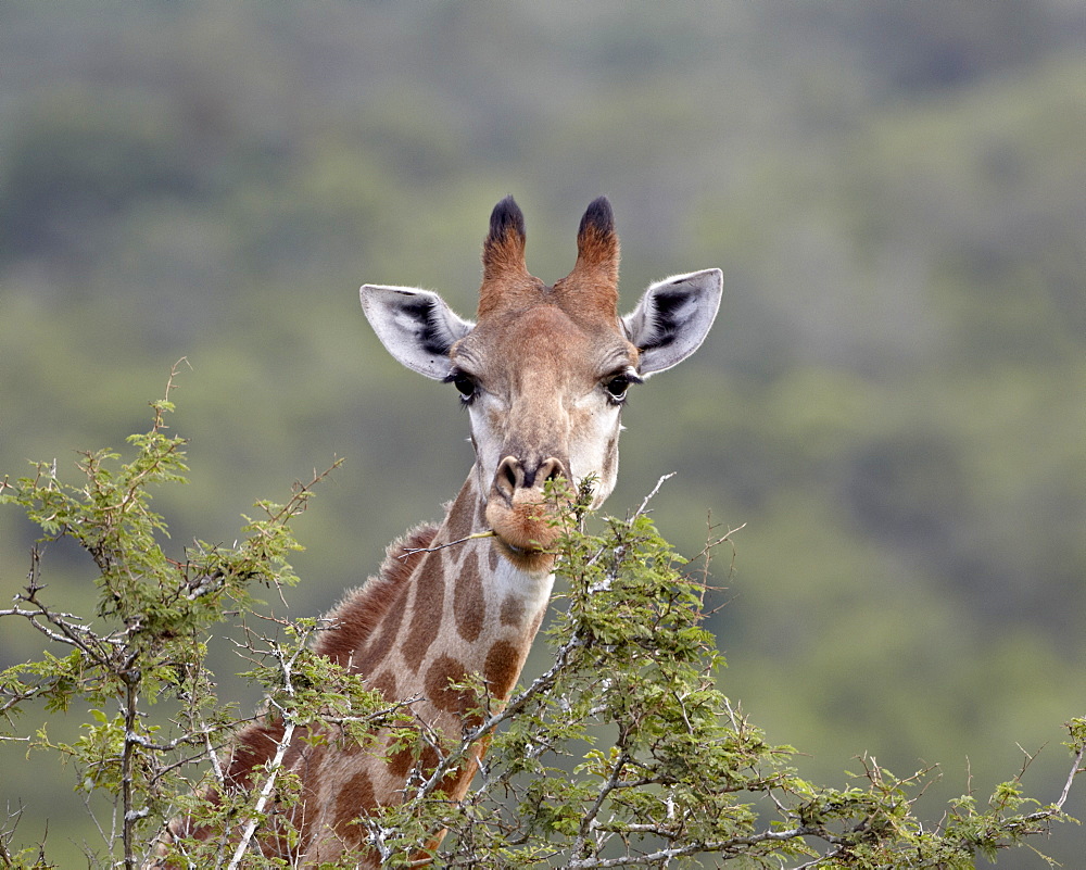
[[(631, 402), (608, 507), (675, 470), (681, 550), (746, 524), (728, 694), (834, 784), (869, 752), (986, 794), (1047, 743), (1026, 784), (1055, 799), (1086, 699), (1084, 133), (1075, 0), (4, 4), (0, 472), (123, 447), (185, 356), (178, 553), (345, 456), (298, 526), (290, 605), (319, 613), (471, 462), (358, 285), (470, 315), (494, 202), (554, 281), (606, 193), (624, 308), (724, 269), (709, 341)], [(5, 596), (34, 537), (0, 513)], [(87, 601), (89, 562), (43, 569)], [(0, 665), (40, 647), (5, 625)], [(92, 836), (70, 771), (0, 752), (21, 841)]]

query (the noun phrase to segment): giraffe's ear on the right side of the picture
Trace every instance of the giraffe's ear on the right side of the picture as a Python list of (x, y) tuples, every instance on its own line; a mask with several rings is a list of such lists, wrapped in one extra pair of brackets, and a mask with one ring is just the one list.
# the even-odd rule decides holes
[(671, 368), (700, 346), (722, 289), (720, 269), (704, 269), (674, 275), (645, 291), (637, 307), (622, 318), (627, 337), (641, 351), (641, 375)]

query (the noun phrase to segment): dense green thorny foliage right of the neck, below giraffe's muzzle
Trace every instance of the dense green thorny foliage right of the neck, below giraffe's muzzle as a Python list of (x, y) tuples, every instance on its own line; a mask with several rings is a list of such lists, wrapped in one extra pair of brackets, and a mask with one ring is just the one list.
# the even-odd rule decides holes
[[(559, 552), (566, 609), (552, 667), (465, 736), (459, 753), (370, 825), (386, 866), (407, 867), (446, 831), (443, 867), (971, 868), (1064, 820), (1022, 796), (1018, 780), (986, 807), (967, 795), (929, 825), (914, 804), (931, 771), (899, 779), (863, 758), (857, 785), (813, 785), (795, 751), (763, 733), (715, 688), (722, 664), (703, 628), (707, 589), (639, 512), (598, 534), (571, 522)], [(729, 540), (725, 535), (716, 544)], [(706, 552), (708, 555), (708, 551)], [(476, 790), (441, 798), (440, 774), (493, 736)], [(1068, 787), (1082, 765), (1079, 736)], [(851, 774), (849, 774), (851, 776)]]

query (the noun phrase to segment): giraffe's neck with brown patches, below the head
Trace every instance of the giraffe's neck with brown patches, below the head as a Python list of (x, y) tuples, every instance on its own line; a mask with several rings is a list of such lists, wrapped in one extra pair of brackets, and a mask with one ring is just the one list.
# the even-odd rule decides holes
[[(394, 542), (381, 575), (329, 615), (333, 628), (317, 646), (365, 674), (390, 703), (411, 702), (420, 728), (437, 734), (445, 752), (479, 721), (482, 706), (508, 699), (554, 583), (550, 572), (517, 569), (491, 538), (463, 540), (488, 529), (484, 507), (472, 469), (442, 524)], [(484, 681), (485, 699), (451, 688), (472, 674)], [(292, 767), (308, 780), (306, 860), (332, 859), (344, 842), (357, 844), (359, 816), (402, 800), (412, 771), (428, 776), (439, 761), (432, 746), (390, 746), (379, 739), (376, 751), (298, 756)], [(449, 798), (464, 796), (481, 752), (476, 744), (442, 781)]]

